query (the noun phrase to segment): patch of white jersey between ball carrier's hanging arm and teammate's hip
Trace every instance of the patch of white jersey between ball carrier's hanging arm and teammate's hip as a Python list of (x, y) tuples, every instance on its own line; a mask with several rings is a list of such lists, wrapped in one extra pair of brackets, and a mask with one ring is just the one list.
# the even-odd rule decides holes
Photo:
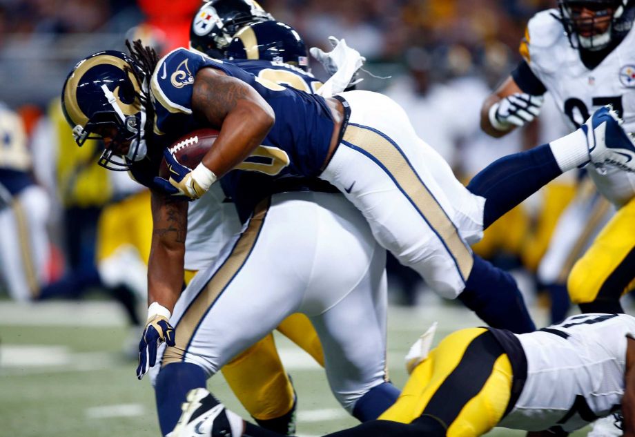
[(213, 184), (203, 197), (189, 203), (186, 270), (202, 270), (213, 264), (226, 242), (242, 229), (233, 202), (224, 200), (220, 184)]

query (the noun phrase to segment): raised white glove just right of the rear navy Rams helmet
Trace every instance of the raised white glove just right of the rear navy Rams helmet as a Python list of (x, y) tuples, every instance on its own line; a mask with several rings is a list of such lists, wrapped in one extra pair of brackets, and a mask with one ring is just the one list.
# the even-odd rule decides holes
[(311, 47), (309, 52), (320, 64), (324, 66), (331, 77), (317, 91), (322, 97), (331, 97), (334, 94), (342, 93), (349, 86), (359, 84), (364, 79), (354, 79), (355, 72), (366, 61), (360, 52), (354, 48), (346, 46), (344, 39), (329, 37), (329, 43), (333, 46), (330, 52), (324, 52), (321, 48)]

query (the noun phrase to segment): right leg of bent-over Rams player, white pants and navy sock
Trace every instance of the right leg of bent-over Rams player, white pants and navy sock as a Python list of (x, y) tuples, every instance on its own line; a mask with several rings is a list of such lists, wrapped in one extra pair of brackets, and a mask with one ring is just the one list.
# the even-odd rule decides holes
[(355, 417), (370, 420), (398, 394), (387, 383), (385, 369), (385, 251), (344, 197), (311, 197), (320, 226), (302, 312), (311, 317), (322, 342), (333, 394)]

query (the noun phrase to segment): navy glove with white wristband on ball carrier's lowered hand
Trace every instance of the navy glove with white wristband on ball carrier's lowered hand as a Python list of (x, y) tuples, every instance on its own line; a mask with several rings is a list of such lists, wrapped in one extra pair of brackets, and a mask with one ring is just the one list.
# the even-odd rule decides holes
[(139, 342), (139, 366), (137, 378), (141, 379), (157, 362), (159, 344), (166, 342), (168, 346), (175, 345), (175, 332), (168, 319), (170, 311), (157, 302), (148, 307), (148, 321)]

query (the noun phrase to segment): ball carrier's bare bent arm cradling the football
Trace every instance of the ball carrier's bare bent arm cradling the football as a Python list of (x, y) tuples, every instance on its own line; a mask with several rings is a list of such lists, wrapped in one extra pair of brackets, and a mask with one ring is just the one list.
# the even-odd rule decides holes
[(192, 108), (199, 119), (220, 130), (213, 148), (202, 160), (217, 177), (260, 146), (275, 122), (273, 109), (251, 86), (213, 68), (197, 73)]

